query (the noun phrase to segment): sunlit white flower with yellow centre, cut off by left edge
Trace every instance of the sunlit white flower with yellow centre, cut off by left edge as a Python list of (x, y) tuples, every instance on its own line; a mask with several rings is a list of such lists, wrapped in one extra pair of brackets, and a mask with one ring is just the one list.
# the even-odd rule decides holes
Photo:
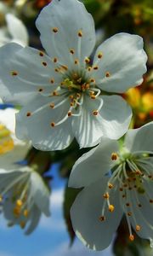
[(21, 141), (14, 135), (15, 113), (14, 108), (0, 109), (0, 168), (14, 169), (17, 162), (24, 160), (31, 143)]

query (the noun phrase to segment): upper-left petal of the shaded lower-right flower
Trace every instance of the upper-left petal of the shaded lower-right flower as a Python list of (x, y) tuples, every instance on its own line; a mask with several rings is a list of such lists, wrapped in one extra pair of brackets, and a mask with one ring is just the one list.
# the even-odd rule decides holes
[(110, 171), (111, 154), (118, 151), (116, 141), (103, 138), (101, 143), (83, 154), (71, 170), (69, 187), (82, 188), (99, 180)]

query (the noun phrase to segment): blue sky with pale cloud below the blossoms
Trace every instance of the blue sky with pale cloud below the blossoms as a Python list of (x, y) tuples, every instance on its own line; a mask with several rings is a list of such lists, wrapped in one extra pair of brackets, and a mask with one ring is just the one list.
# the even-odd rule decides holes
[[(54, 166), (53, 192), (51, 196), (51, 218), (42, 217), (31, 236), (24, 236), (19, 227), (8, 228), (3, 217), (0, 218), (0, 256), (112, 256), (111, 248), (103, 252), (92, 252), (76, 239), (69, 248), (69, 237), (62, 218), (63, 187), (65, 181), (57, 175)], [(52, 172), (52, 173), (53, 173)]]

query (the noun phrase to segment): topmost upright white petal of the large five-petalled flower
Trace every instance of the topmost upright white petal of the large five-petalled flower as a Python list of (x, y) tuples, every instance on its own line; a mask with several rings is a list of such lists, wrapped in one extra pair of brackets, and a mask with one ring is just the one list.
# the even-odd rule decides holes
[[(71, 64), (70, 49), (75, 50), (74, 57), (80, 61), (94, 49), (94, 20), (77, 0), (52, 1), (42, 9), (36, 25), (41, 32), (44, 49), (62, 64)], [(53, 32), (54, 28), (58, 32)], [(79, 31), (82, 31), (82, 37), (78, 37)]]

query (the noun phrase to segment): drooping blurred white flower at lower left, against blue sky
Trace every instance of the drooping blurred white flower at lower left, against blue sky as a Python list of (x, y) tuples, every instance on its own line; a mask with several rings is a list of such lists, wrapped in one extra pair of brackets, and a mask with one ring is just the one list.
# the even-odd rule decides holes
[(29, 235), (42, 212), (49, 216), (49, 190), (42, 177), (30, 167), (17, 171), (0, 170), (0, 201), (8, 226), (19, 224)]

